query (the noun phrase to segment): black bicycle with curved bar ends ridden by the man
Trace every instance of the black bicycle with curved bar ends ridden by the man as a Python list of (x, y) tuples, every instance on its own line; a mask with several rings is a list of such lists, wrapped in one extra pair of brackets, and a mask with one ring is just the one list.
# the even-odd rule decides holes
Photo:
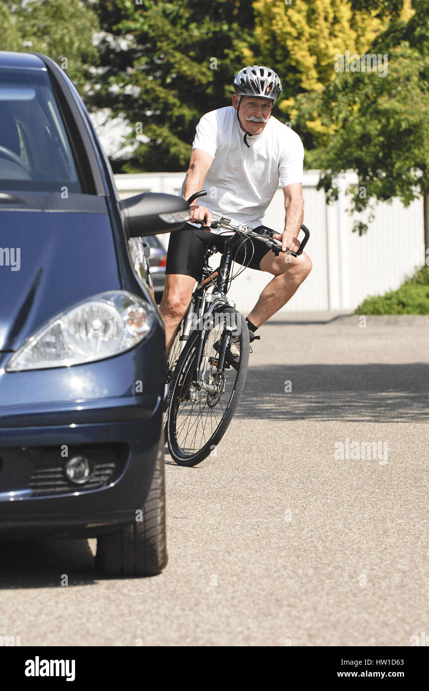
[[(205, 190), (196, 192), (189, 198), (189, 205), (206, 194)], [(249, 329), (235, 303), (227, 298), (227, 292), (233, 279), (247, 266), (240, 266), (235, 275), (230, 275), (231, 239), (236, 234), (243, 243), (249, 238), (259, 238), (276, 256), (283, 252), (281, 243), (272, 237), (276, 231), (266, 226), (253, 229), (236, 225), (222, 216), (220, 220), (213, 220), (211, 228), (222, 228), (233, 234), (225, 242), (217, 269), (209, 266), (209, 258), (220, 252), (216, 238), (207, 247), (200, 279), (169, 353), (166, 375), (165, 438), (171, 457), (182, 466), (195, 466), (216, 448), (231, 422), (245, 385)], [(309, 231), (305, 225), (301, 225), (301, 229), (305, 238), (298, 252), (286, 250), (284, 254), (298, 256), (303, 252)], [(240, 346), (238, 363), (229, 356), (229, 345), (236, 338)]]

